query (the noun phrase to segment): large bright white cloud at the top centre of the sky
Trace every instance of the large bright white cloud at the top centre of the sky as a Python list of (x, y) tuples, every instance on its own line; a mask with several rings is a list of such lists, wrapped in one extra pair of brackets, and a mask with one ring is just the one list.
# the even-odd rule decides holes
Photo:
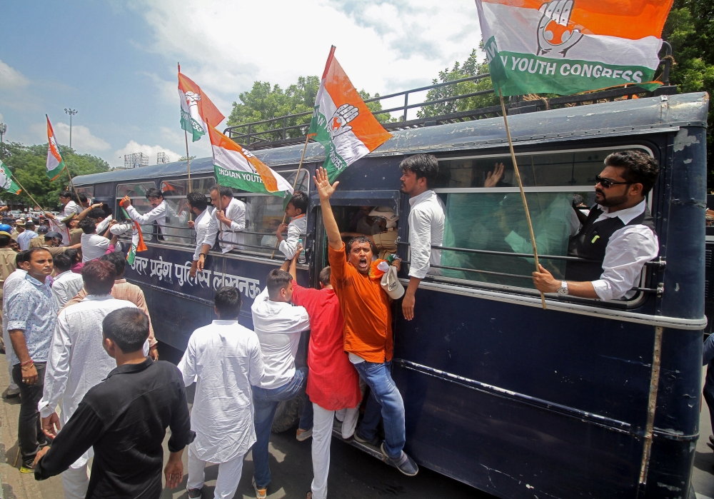
[(438, 7), (431, 0), (213, 0), (191, 9), (134, 0), (132, 6), (154, 32), (149, 49), (181, 61), (182, 72), (226, 115), (255, 80), (284, 88), (298, 76), (321, 75), (331, 44), (357, 89), (385, 94), (428, 84), (481, 40), (476, 6), (467, 0)]

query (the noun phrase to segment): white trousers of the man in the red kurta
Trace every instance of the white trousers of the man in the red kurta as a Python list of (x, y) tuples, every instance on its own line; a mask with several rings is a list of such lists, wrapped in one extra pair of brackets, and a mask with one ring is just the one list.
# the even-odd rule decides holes
[[(326, 499), (327, 477), (330, 473), (330, 442), (332, 440), (332, 424), (335, 418), (335, 411), (323, 409), (316, 403), (313, 403), (313, 411), (315, 414), (313, 417), (312, 443), (314, 478), (310, 489), (313, 493), (313, 499)], [(350, 438), (357, 425), (359, 408), (341, 409), (337, 412), (343, 418), (342, 437)]]

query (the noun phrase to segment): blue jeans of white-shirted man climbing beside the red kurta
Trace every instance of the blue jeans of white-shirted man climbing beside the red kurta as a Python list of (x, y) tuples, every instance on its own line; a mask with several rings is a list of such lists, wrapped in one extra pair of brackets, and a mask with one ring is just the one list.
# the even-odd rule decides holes
[[(253, 444), (253, 466), (258, 488), (266, 488), (270, 483), (268, 440), (270, 440), (270, 429), (273, 425), (273, 418), (278, 404), (283, 400), (290, 400), (304, 395), (307, 382), (308, 368), (298, 368), (295, 370), (293, 379), (278, 388), (253, 386), (253, 405), (255, 405), (253, 421), (256, 425), (256, 443)], [(300, 428), (304, 430), (312, 428), (312, 420), (313, 408), (308, 400), (300, 418)]]

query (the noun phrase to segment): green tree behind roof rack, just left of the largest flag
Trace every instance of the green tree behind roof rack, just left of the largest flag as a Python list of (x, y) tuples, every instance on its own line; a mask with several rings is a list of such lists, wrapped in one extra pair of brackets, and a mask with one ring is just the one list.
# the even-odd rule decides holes
[[(481, 42), (481, 47), (483, 48), (483, 41)], [(456, 61), (453, 64), (453, 68), (446, 68), (443, 71), (439, 71), (438, 78), (433, 79), (431, 83), (436, 85), (486, 73), (488, 73), (486, 60), (478, 64), (478, 53), (476, 49), (473, 49), (471, 55), (464, 61), (463, 66), (459, 61)], [(426, 100), (438, 101), (439, 99), (448, 99), (449, 97), (471, 94), (472, 92), (481, 90), (491, 90), (491, 92), (466, 99), (423, 106), (423, 108), (417, 112), (416, 116), (419, 118), (428, 118), (429, 116), (442, 116), (444, 114), (458, 113), (459, 111), (468, 111), (469, 109), (481, 109), (483, 107), (498, 105), (498, 98), (493, 94), (491, 78), (488, 77), (476, 81), (462, 81), (454, 85), (439, 86), (426, 93)]]

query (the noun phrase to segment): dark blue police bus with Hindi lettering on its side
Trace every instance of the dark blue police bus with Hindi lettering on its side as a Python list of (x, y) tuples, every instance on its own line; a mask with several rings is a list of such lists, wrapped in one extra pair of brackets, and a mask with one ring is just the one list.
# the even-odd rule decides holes
[[(661, 165), (648, 197), (659, 257), (643, 269), (629, 300), (608, 303), (546, 296), (530, 279), (528, 251), (503, 238), (505, 223), (528, 240), (513, 181), (503, 119), (427, 126), (391, 140), (348, 168), (333, 196), (348, 231), (360, 206), (400, 215), (399, 253), (408, 261), (408, 200), (399, 162), (413, 153), (439, 159), (436, 192), (446, 205), (441, 275), (417, 293), (416, 318), (395, 306), (393, 378), (406, 404), (407, 448), (419, 465), (502, 498), (686, 498), (690, 490), (701, 393), (705, 289), (705, 128), (707, 94), (626, 99), (511, 116), (509, 124), (542, 262), (562, 276), (574, 196), (593, 204), (595, 175), (613, 151), (637, 148)], [(302, 146), (255, 151), (290, 181)], [(298, 188), (311, 198), (306, 264), (310, 286), (326, 265), (326, 237), (309, 177), (324, 159), (311, 143)], [(506, 173), (484, 187), (494, 163)], [(211, 158), (191, 162), (193, 191), (208, 193)], [(183, 349), (213, 317), (219, 286), (245, 299), (265, 286), (270, 228), (282, 219), (273, 196), (237, 192), (248, 206), (246, 246), (212, 251), (206, 271), (188, 277), (192, 231), (185, 220), (186, 163), (111, 171), (75, 179), (96, 200), (133, 198), (149, 209), (149, 187), (166, 199), (176, 225), (164, 240), (145, 227), (149, 251), (127, 272), (144, 289), (156, 337)], [(173, 218), (173, 216), (172, 216)], [(530, 246), (530, 243), (528, 243)], [(404, 274), (406, 276), (406, 274)], [(406, 280), (404, 281), (406, 283)], [(353, 444), (358, 445), (358, 444)], [(373, 451), (367, 446), (363, 450)]]

